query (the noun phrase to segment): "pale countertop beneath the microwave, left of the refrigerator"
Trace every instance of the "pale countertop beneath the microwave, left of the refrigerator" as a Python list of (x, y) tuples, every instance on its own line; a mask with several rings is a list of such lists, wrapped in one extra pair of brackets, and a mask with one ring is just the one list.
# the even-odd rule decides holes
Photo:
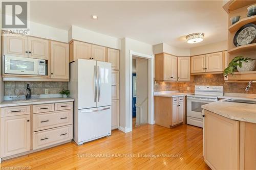
[(41, 98), (31, 102), (14, 103), (12, 101), (3, 101), (0, 103), (0, 107), (10, 107), (10, 106), (25, 106), (25, 105), (37, 105), (46, 103), (60, 103), (60, 102), (72, 102), (72, 98)]

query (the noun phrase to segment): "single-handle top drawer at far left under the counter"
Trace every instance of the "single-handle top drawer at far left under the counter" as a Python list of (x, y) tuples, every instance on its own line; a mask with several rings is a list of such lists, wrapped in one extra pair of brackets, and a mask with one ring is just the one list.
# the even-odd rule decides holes
[(1, 108), (1, 117), (30, 114), (30, 106), (15, 106)]

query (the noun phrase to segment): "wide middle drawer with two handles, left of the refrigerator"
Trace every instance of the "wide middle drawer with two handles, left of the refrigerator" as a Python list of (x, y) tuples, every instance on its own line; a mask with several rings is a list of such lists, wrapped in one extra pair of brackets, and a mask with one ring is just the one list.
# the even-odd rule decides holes
[(73, 110), (33, 114), (33, 132), (73, 123)]

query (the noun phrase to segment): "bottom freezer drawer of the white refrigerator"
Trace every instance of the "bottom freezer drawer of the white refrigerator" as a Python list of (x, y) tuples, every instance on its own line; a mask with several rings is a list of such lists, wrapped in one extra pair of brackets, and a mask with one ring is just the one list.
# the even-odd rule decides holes
[(79, 110), (78, 144), (111, 134), (111, 107)]

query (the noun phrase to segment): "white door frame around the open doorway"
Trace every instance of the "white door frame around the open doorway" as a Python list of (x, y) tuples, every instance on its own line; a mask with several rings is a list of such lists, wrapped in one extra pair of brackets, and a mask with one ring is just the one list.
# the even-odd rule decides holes
[(133, 130), (133, 56), (148, 60), (148, 124), (155, 124), (154, 119), (154, 55), (137, 53), (130, 50), (130, 131)]

